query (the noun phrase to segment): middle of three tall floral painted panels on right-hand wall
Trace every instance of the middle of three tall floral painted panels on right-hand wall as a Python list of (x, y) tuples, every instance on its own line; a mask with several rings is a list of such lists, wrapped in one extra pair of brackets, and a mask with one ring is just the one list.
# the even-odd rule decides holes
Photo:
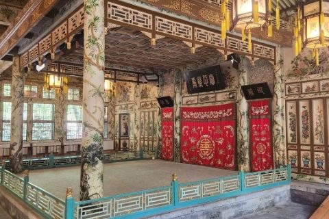
[(300, 101), (300, 142), (310, 144), (310, 102)]

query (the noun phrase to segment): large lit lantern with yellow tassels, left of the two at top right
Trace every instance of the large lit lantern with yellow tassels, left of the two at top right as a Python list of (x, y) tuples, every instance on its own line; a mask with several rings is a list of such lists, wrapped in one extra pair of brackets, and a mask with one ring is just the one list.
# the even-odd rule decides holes
[[(246, 39), (246, 34), (248, 34), (248, 51), (252, 50), (252, 29), (267, 24), (268, 36), (272, 36), (271, 10), (271, 0), (234, 0), (233, 27), (241, 29), (243, 41)], [(280, 11), (276, 14), (279, 16), (277, 19), (280, 26)]]

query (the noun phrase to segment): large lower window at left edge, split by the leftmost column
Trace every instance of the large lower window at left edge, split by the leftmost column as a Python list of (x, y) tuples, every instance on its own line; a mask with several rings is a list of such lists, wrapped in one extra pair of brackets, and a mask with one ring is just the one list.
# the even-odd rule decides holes
[[(12, 119), (12, 103), (11, 102), (3, 102), (2, 105), (2, 141), (9, 142), (10, 141), (10, 120)], [(24, 103), (24, 111), (23, 111), (23, 141), (26, 141), (26, 133), (27, 133), (27, 103)]]

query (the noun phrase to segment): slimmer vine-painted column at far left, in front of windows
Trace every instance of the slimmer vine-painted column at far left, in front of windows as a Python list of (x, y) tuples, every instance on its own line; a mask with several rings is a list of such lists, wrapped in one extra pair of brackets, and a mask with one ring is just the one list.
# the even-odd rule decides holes
[(20, 69), (19, 56), (12, 60), (12, 118), (10, 131), (10, 170), (23, 171), (23, 111), (24, 75)]

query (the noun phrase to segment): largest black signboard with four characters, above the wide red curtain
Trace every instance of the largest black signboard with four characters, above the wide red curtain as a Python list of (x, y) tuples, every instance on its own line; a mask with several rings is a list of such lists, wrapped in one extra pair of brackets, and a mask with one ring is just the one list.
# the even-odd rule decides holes
[(225, 89), (221, 66), (191, 70), (184, 74), (188, 94)]

